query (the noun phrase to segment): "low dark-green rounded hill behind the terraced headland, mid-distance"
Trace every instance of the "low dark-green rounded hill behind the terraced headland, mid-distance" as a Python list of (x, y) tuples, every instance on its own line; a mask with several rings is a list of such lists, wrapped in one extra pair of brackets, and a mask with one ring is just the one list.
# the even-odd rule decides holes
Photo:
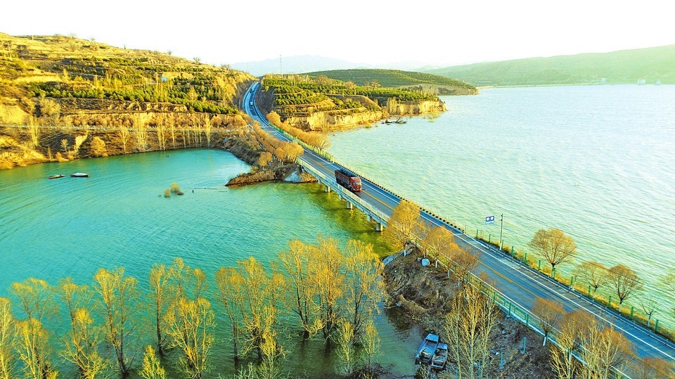
[(425, 91), (433, 88), (431, 92), (438, 95), (466, 95), (476, 94), (475, 86), (450, 79), (439, 75), (422, 72), (384, 70), (384, 69), (360, 69), (360, 70), (330, 70), (307, 72), (310, 77), (325, 76), (342, 82), (354, 82), (358, 86), (366, 86), (373, 82), (385, 87), (406, 87), (411, 89), (424, 88)]

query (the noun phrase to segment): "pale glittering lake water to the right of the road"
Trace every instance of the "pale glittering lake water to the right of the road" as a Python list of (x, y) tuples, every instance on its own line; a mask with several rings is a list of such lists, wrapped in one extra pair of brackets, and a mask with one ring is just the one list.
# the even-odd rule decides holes
[[(537, 229), (563, 229), (579, 259), (634, 269), (662, 301), (655, 316), (672, 317), (675, 296), (660, 283), (675, 273), (675, 86), (483, 89), (443, 100), (448, 111), (435, 119), (336, 133), (329, 151), (471, 235), (499, 240), (502, 213), (505, 243), (518, 250)], [(485, 226), (490, 214), (498, 221)]]

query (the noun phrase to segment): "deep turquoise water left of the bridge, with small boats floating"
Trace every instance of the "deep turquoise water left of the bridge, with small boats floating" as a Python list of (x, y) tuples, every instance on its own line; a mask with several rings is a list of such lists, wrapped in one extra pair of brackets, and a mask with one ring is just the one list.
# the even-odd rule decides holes
[[(363, 214), (345, 210), (335, 195), (323, 193), (316, 184), (224, 186), (245, 171), (248, 165), (221, 150), (172, 151), (168, 158), (145, 153), (0, 171), (0, 296), (8, 296), (11, 283), (29, 277), (56, 284), (71, 276), (76, 283), (91, 284), (99, 267), (114, 266), (124, 266), (146, 288), (150, 266), (169, 264), (174, 257), (183, 257), (212, 278), (220, 266), (250, 256), (269, 262), (291, 238), (314, 243), (319, 233), (342, 245), (352, 238), (378, 243), (378, 233)], [(68, 177), (72, 172), (91, 177)], [(48, 180), (51, 174), (66, 177)], [(185, 195), (164, 198), (172, 182)], [(383, 249), (381, 244), (378, 249)], [(52, 329), (59, 333), (58, 327)], [(378, 316), (378, 329), (382, 349), (388, 352), (380, 361), (394, 373), (410, 373), (419, 332), (401, 328), (385, 313)], [(232, 373), (224, 326), (218, 330), (214, 372)], [(322, 342), (296, 342), (300, 341), (285, 341), (292, 353), (286, 360), (289, 370), (316, 375), (333, 371), (334, 356), (326, 356)], [(315, 364), (302, 367), (295, 352)]]

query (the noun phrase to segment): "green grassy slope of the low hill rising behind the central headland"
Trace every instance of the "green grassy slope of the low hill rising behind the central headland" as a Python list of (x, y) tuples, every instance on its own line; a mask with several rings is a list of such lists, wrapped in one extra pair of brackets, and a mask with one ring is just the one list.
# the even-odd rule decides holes
[(363, 70), (331, 70), (308, 72), (306, 75), (318, 77), (323, 75), (330, 79), (341, 80), (342, 82), (351, 81), (359, 86), (364, 86), (370, 82), (378, 82), (381, 86), (413, 86), (418, 84), (435, 84), (439, 86), (456, 86), (461, 88), (473, 89), (473, 86), (456, 79), (442, 77), (439, 75), (425, 74), (422, 72), (411, 72), (401, 70), (384, 69), (363, 69)]

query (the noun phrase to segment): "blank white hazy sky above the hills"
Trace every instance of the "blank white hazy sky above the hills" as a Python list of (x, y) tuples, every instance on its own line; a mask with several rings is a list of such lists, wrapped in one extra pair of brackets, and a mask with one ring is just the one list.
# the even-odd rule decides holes
[(675, 44), (670, 2), (653, 0), (3, 3), (0, 32), (75, 33), (217, 65), (306, 54), (456, 65)]

